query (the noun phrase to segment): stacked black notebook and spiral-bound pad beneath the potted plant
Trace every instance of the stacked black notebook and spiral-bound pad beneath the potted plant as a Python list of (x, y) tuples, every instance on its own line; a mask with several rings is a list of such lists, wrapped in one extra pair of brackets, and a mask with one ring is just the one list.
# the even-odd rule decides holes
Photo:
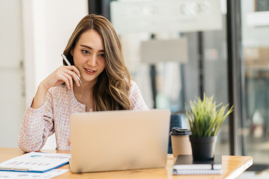
[(174, 175), (221, 174), (222, 156), (215, 155), (213, 160), (193, 161), (192, 155), (179, 155), (173, 166)]

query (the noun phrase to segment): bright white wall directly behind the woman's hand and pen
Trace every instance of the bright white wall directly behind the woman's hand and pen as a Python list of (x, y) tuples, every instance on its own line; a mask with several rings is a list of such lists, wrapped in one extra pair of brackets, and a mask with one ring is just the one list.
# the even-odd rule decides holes
[[(61, 53), (78, 22), (88, 14), (88, 0), (23, 0), (26, 103), (40, 82), (62, 65)], [(51, 136), (44, 148), (55, 148)]]

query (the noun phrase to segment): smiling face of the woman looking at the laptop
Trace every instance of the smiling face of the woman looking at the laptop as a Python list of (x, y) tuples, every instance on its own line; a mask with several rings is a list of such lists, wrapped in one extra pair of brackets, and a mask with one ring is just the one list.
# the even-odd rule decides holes
[(71, 55), (82, 80), (96, 83), (106, 67), (104, 42), (99, 33), (89, 30), (81, 34)]

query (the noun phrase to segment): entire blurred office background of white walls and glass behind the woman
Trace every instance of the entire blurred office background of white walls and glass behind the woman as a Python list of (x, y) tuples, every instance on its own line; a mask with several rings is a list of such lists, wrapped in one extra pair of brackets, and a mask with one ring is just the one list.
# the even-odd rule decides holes
[(0, 0), (0, 147), (17, 147), (28, 102), (88, 13), (114, 24), (149, 108), (184, 117), (203, 92), (235, 104), (216, 153), (253, 156), (243, 178), (268, 177), (269, 0)]

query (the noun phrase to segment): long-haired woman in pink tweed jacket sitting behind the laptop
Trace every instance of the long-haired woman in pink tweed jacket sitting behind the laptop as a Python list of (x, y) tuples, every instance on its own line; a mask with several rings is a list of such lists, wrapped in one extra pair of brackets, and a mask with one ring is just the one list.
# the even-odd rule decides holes
[(120, 39), (105, 17), (86, 15), (64, 55), (71, 66), (59, 67), (43, 80), (24, 113), (18, 137), (24, 152), (40, 150), (54, 132), (57, 149), (70, 150), (71, 113), (148, 110), (124, 64)]

